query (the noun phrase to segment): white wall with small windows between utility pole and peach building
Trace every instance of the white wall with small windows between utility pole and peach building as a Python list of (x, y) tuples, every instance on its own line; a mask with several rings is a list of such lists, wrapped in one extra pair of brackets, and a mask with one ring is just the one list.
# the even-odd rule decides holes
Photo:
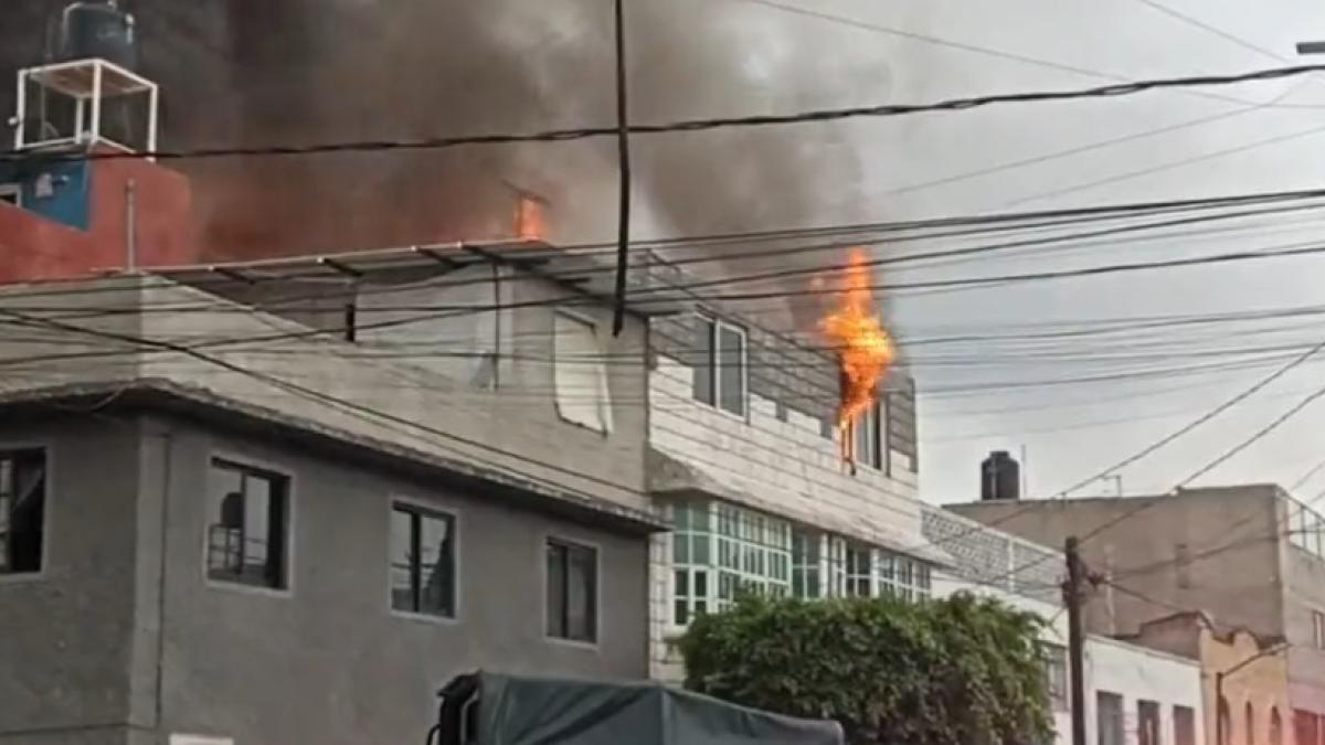
[(1206, 742), (1200, 721), (1202, 677), (1195, 660), (1137, 647), (1104, 636), (1088, 636), (1085, 643), (1086, 742), (1098, 742), (1097, 693), (1122, 696), (1126, 745), (1137, 745), (1137, 704), (1159, 704), (1159, 741), (1174, 742), (1174, 707), (1192, 711), (1196, 742)]

